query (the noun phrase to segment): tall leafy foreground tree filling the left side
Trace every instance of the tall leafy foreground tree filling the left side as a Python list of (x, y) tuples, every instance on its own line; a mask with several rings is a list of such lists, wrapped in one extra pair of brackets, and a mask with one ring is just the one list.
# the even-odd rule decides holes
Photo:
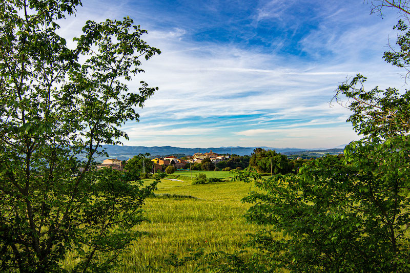
[(0, 4), (0, 271), (107, 271), (138, 236), (140, 207), (155, 188), (124, 173), (93, 171), (101, 144), (128, 136), (135, 107), (157, 88), (141, 81), (140, 58), (160, 51), (130, 18), (88, 21), (70, 49), (57, 19), (79, 0)]

